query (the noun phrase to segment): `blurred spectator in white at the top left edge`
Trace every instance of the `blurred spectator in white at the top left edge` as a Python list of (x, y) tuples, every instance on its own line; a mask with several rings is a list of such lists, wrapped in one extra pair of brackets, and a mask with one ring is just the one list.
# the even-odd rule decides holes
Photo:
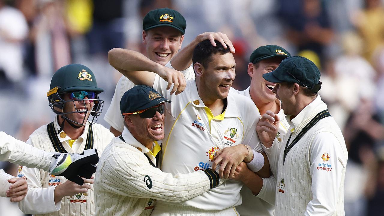
[(5, 74), (12, 82), (25, 77), (22, 42), (27, 35), (28, 25), (23, 13), (0, 0), (0, 74)]

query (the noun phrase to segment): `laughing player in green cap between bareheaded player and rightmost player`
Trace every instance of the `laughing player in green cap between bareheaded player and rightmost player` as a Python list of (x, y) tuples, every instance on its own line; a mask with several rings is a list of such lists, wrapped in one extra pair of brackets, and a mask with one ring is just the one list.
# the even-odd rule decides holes
[[(195, 47), (192, 44), (185, 47), (182, 52), (178, 53), (174, 59), (170, 61), (170, 65), (177, 70), (185, 70), (189, 67), (192, 62), (193, 50)], [(260, 112), (260, 115), (264, 115), (267, 110), (272, 111), (276, 115), (280, 116), (280, 127), (278, 135), (274, 140), (276, 146), (280, 148), (281, 141), (289, 128), (288, 122), (285, 120), (285, 115), (281, 109), (281, 102), (272, 92), (275, 83), (266, 81), (262, 75), (275, 70), (280, 62), (291, 56), (288, 51), (284, 48), (276, 45), (266, 45), (258, 47), (252, 52), (249, 58), (248, 64), (248, 75), (251, 77), (250, 86), (243, 91), (232, 89), (235, 93), (245, 95), (252, 99)], [(167, 65), (168, 66), (168, 65)], [(239, 146), (233, 146), (225, 148), (216, 152), (213, 167), (215, 163), (218, 163), (220, 157), (218, 155), (243, 155), (245, 149), (238, 148)], [(264, 149), (269, 151), (269, 149)], [(278, 155), (268, 155), (272, 173), (275, 175), (277, 170)], [(241, 161), (238, 161), (240, 163)], [(276, 190), (276, 179), (274, 176), (270, 178), (260, 178), (248, 166), (239, 167), (235, 173), (231, 173), (230, 178), (242, 181), (246, 187), (241, 190), (242, 204), (237, 207), (240, 215), (253, 216), (253, 215), (274, 215), (275, 210), (275, 190)], [(241, 171), (241, 172), (240, 172)], [(255, 184), (259, 182), (260, 184)]]

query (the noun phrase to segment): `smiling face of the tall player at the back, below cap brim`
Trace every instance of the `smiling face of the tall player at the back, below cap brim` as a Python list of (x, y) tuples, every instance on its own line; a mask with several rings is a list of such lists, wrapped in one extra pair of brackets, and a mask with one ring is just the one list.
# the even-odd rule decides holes
[(175, 28), (162, 26), (143, 31), (142, 40), (146, 45), (147, 57), (166, 65), (181, 49), (184, 35)]

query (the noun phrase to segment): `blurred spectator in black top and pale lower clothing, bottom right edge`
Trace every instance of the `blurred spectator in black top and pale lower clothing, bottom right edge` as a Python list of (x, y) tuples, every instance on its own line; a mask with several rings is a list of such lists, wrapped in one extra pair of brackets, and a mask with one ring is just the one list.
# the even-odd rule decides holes
[(348, 216), (367, 215), (367, 198), (376, 190), (377, 158), (375, 143), (384, 138), (372, 101), (362, 100), (344, 129), (348, 166), (344, 184), (344, 208)]

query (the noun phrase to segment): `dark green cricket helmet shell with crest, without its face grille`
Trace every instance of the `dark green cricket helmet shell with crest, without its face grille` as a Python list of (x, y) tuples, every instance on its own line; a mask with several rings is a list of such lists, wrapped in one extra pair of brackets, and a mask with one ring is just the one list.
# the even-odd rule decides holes
[(59, 68), (53, 74), (51, 80), (50, 90), (52, 91), (55, 88), (58, 93), (70, 91), (94, 91), (95, 93), (101, 93), (104, 91), (102, 88), (98, 88), (96, 78), (91, 69), (80, 64), (70, 64)]

